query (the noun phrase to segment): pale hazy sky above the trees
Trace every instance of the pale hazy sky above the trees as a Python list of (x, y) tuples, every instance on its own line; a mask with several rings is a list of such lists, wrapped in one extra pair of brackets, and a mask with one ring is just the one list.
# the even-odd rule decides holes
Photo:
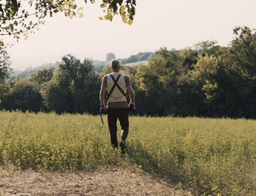
[(75, 2), (84, 8), (83, 18), (53, 14), (27, 41), (23, 36), (19, 42), (12, 36), (2, 37), (5, 43), (14, 43), (8, 48), (12, 68), (24, 70), (54, 63), (68, 53), (81, 60), (105, 60), (107, 52), (127, 58), (160, 47), (191, 47), (207, 39), (227, 46), (234, 37), (234, 27), (256, 28), (255, 0), (137, 0), (132, 26), (123, 24), (119, 15), (112, 22), (99, 20), (101, 0), (93, 5), (85, 5), (83, 0)]

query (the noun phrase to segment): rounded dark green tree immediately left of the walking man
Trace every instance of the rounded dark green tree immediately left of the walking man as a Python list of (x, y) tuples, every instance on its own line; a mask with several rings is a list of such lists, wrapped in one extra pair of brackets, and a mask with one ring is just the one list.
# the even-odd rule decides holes
[(90, 104), (92, 100), (98, 100), (96, 92), (100, 89), (100, 80), (91, 61), (84, 59), (80, 62), (70, 54), (63, 56), (62, 60), (59, 70), (41, 91), (46, 107), (57, 113), (94, 113), (95, 104)]

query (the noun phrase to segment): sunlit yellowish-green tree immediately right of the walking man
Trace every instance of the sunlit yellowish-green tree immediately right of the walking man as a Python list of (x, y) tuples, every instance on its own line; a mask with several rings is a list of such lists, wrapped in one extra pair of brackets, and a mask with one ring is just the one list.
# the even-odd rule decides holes
[[(151, 58), (147, 66), (143, 64), (139, 66), (132, 78), (135, 80), (134, 90), (140, 115), (162, 116), (167, 113), (165, 102), (167, 91), (178, 74), (177, 51), (161, 48), (156, 55)], [(131, 71), (135, 73), (134, 70)]]

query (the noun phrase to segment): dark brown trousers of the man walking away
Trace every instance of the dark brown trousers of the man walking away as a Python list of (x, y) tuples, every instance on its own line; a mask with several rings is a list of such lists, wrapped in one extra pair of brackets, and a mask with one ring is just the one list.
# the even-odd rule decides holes
[(111, 145), (116, 148), (118, 147), (117, 141), (117, 119), (121, 125), (121, 138), (123, 141), (126, 140), (129, 133), (129, 116), (127, 108), (108, 108), (108, 123), (110, 129)]

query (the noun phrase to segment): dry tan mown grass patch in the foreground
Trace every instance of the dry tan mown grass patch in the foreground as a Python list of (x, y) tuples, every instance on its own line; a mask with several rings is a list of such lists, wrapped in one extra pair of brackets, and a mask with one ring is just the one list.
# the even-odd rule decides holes
[[(182, 195), (172, 186), (133, 169), (34, 172), (0, 169), (5, 195)], [(4, 190), (0, 191), (3, 195)]]

